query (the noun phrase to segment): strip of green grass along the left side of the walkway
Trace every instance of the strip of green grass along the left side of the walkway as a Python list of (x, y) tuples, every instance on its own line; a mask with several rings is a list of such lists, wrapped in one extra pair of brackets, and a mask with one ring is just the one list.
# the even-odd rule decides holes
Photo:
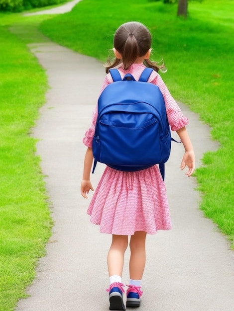
[(20, 15), (0, 14), (0, 311), (26, 297), (52, 226), (36, 139), (29, 135), (47, 79), (25, 42), (4, 26), (16, 20)]

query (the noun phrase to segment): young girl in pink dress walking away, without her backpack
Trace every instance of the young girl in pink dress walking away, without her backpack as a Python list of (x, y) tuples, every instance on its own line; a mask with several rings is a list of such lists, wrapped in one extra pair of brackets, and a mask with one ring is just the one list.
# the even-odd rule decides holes
[[(151, 35), (141, 23), (122, 24), (114, 36), (114, 54), (116, 59), (106, 67), (107, 76), (101, 92), (113, 82), (109, 70), (117, 68), (121, 78), (131, 74), (138, 80), (145, 67), (154, 71), (148, 82), (158, 85), (166, 106), (168, 122), (172, 131), (179, 135), (185, 149), (181, 169), (188, 166), (187, 176), (195, 169), (193, 146), (186, 130), (188, 119), (183, 116), (176, 101), (171, 96), (162, 78), (158, 75), (164, 65), (149, 60), (151, 52)], [(90, 181), (93, 163), (92, 141), (97, 120), (97, 106), (94, 110), (90, 128), (85, 133), (84, 144), (88, 147), (84, 172), (81, 182), (81, 195), (87, 198), (94, 190)], [(110, 310), (125, 310), (123, 302), (124, 284), (121, 276), (124, 252), (130, 235), (129, 283), (126, 291), (126, 307), (139, 307), (142, 296), (141, 280), (145, 267), (146, 234), (155, 234), (157, 230), (170, 230), (171, 219), (168, 209), (165, 185), (158, 165), (149, 168), (125, 172), (106, 167), (94, 192), (87, 212), (91, 223), (100, 225), (101, 233), (112, 234), (112, 244), (108, 253), (108, 270), (110, 276), (109, 292)]]

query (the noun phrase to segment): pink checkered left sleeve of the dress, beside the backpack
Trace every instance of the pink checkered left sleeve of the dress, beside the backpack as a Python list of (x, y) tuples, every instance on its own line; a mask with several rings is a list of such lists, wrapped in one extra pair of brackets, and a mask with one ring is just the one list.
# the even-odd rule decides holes
[[(103, 92), (103, 90), (108, 86), (108, 84), (112, 83), (113, 79), (111, 77), (111, 74), (108, 74), (106, 78), (104, 79), (103, 86), (101, 88), (100, 94)], [(98, 104), (96, 104), (95, 109), (92, 114), (91, 124), (88, 130), (85, 132), (85, 137), (83, 138), (83, 143), (85, 146), (92, 148), (92, 142), (93, 137), (95, 133), (95, 126), (97, 122), (98, 117)]]

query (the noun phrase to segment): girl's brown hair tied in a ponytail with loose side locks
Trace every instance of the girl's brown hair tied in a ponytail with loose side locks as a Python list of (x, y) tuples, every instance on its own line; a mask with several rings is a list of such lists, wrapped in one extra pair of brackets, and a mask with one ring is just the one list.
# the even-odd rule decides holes
[[(144, 56), (151, 48), (152, 38), (149, 30), (139, 22), (127, 22), (118, 27), (114, 36), (114, 47), (122, 56), (122, 59), (108, 60), (106, 73), (109, 69), (123, 64), (123, 69), (127, 70), (138, 57)], [(164, 63), (144, 60), (146, 67), (153, 68), (156, 72), (166, 71)]]

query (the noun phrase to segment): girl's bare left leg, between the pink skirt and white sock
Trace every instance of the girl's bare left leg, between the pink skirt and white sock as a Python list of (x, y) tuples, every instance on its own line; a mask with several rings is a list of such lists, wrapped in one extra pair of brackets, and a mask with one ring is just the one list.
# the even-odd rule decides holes
[(124, 253), (128, 245), (127, 235), (112, 236), (112, 244), (108, 253), (109, 276), (118, 275), (122, 277)]

